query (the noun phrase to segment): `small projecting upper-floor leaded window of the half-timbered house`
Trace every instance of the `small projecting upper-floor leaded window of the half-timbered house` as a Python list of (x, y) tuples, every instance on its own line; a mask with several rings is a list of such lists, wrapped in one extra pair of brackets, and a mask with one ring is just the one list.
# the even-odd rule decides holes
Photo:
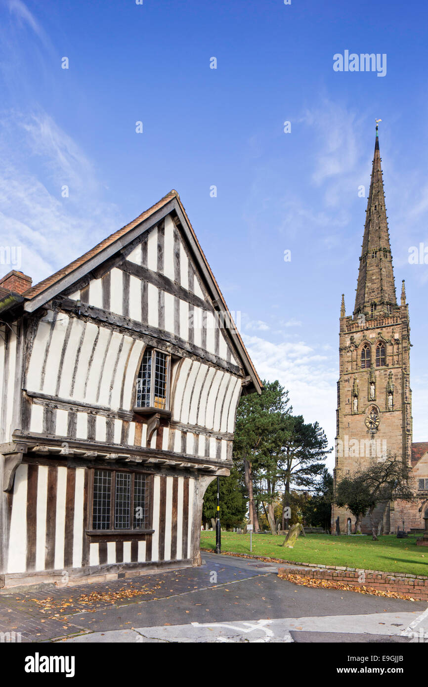
[(137, 376), (136, 406), (168, 410), (170, 355), (146, 348)]

